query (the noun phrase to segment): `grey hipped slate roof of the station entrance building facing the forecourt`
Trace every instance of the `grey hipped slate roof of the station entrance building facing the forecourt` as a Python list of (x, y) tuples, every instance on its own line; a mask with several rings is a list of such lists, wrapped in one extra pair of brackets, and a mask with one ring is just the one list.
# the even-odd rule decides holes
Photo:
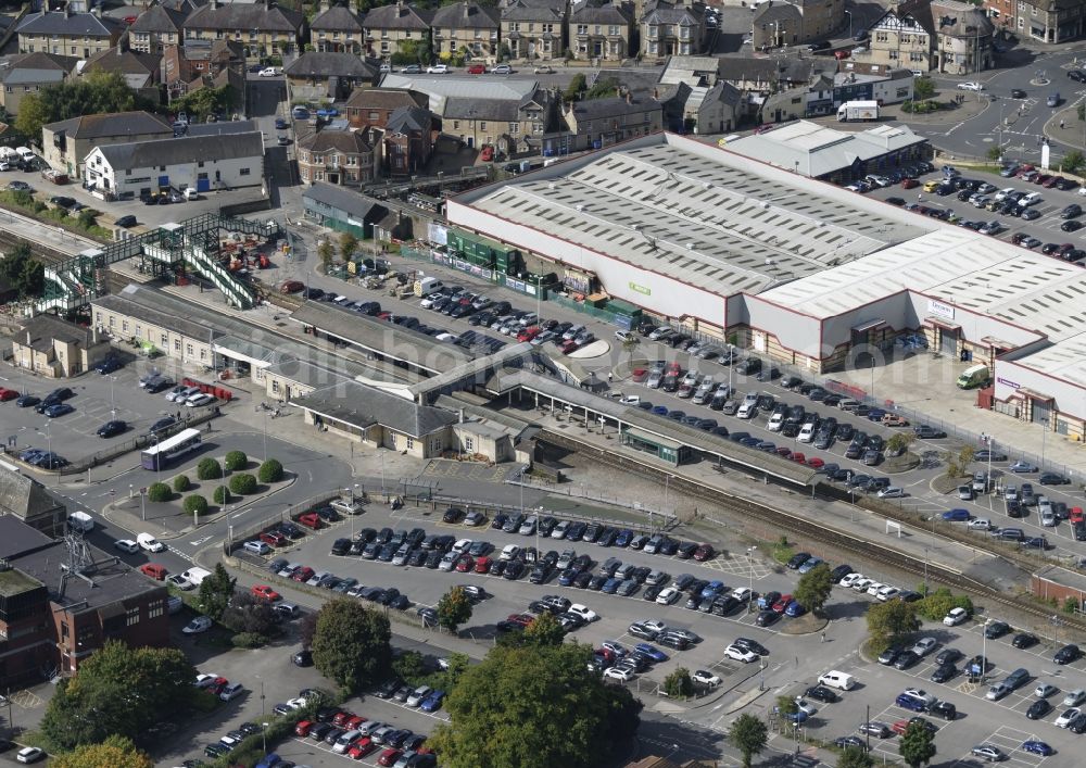
[(390, 394), (374, 387), (348, 381), (294, 398), (291, 405), (358, 428), (381, 425), (401, 435), (422, 438), (451, 424), (457, 415)]

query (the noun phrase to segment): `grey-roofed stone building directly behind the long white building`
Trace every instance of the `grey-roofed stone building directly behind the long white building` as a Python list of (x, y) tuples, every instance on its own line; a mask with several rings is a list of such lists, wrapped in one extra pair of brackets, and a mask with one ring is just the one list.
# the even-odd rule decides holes
[(94, 147), (169, 138), (174, 129), (150, 112), (84, 115), (41, 128), (42, 158), (54, 171), (81, 178), (85, 159)]

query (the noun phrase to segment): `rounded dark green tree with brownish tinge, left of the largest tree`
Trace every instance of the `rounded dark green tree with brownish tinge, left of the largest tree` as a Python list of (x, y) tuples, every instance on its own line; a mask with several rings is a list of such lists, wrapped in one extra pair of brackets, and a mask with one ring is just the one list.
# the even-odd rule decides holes
[(392, 660), (389, 619), (354, 600), (325, 603), (313, 633), (313, 664), (345, 691), (380, 680)]

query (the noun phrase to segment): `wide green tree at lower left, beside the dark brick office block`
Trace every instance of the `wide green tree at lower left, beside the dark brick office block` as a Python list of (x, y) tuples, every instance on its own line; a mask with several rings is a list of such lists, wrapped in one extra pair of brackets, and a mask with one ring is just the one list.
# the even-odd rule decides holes
[(177, 649), (131, 647), (108, 640), (83, 660), (77, 677), (56, 685), (41, 731), (62, 750), (100, 744), (113, 734), (136, 739), (164, 713), (185, 714), (195, 673)]

